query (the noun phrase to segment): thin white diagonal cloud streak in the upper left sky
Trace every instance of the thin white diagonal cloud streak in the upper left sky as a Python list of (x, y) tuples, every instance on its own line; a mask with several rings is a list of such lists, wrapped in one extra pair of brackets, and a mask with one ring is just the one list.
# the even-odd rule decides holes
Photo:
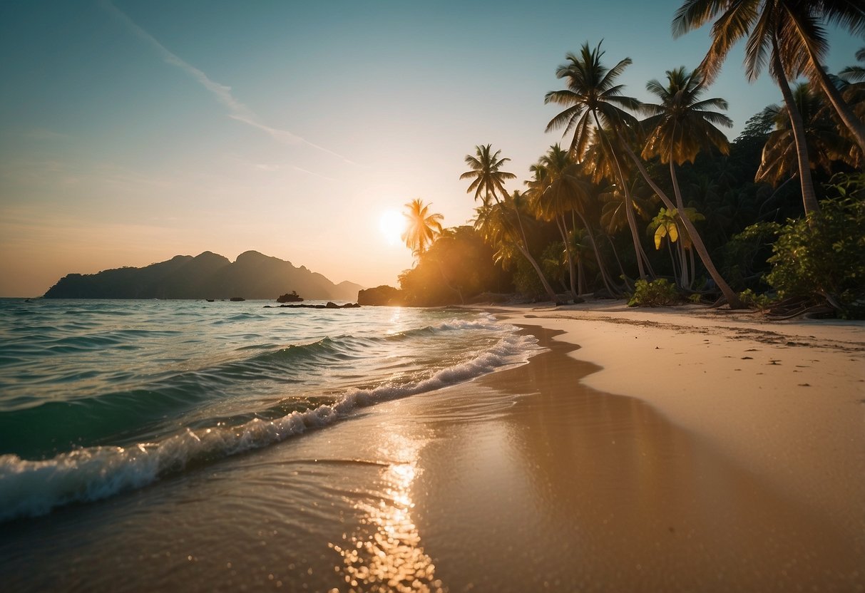
[(192, 66), (187, 61), (183, 61), (176, 54), (173, 54), (169, 49), (165, 48), (162, 43), (157, 41), (157, 39), (138, 26), (138, 24), (129, 16), (126, 16), (125, 12), (119, 10), (114, 4), (111, 3), (111, 0), (103, 0), (102, 6), (112, 13), (112, 15), (119, 18), (122, 22), (125, 23), (127, 27), (129, 27), (138, 37), (147, 41), (152, 48), (157, 51), (157, 54), (162, 56), (163, 61), (166, 63), (178, 67), (183, 72), (188, 73), (189, 76), (194, 78), (201, 84), (204, 88), (206, 88), (209, 92), (211, 92), (215, 98), (222, 104), (225, 105), (228, 109), (228, 117), (236, 119), (239, 122), (250, 125), (253, 128), (258, 128), (260, 131), (266, 132), (270, 137), (276, 140), (279, 143), (289, 144), (289, 145), (298, 145), (303, 144), (306, 146), (310, 146), (316, 150), (321, 150), (322, 152), (326, 152), (329, 155), (336, 156), (337, 158), (343, 159), (346, 163), (356, 164), (350, 161), (345, 156), (340, 155), (339, 153), (334, 152), (333, 150), (329, 150), (324, 148), (324, 146), (319, 146), (316, 143), (311, 143), (309, 140), (306, 140), (304, 137), (300, 137), (292, 131), (288, 130), (280, 130), (279, 128), (274, 128), (270, 125), (264, 124), (261, 122), (258, 115), (256, 115), (253, 110), (251, 110), (247, 105), (244, 105), (242, 102), (234, 98), (234, 95), (231, 92), (231, 86), (221, 85), (215, 80), (211, 80), (210, 77), (203, 73), (198, 68)]

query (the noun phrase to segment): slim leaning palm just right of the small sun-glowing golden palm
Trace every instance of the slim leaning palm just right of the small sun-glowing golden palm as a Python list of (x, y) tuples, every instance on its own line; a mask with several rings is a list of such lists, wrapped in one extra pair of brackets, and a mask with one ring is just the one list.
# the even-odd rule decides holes
[[(507, 163), (509, 158), (499, 158), (501, 150), (495, 153), (492, 151), (491, 144), (484, 144), (475, 147), (475, 155), (466, 155), (465, 163), (471, 167), (471, 170), (459, 175), (460, 179), (471, 179), (472, 182), (469, 188), (466, 189), (467, 194), (475, 193), (475, 200), (481, 199), (484, 205), (488, 205), (490, 198), (496, 201), (499, 207), (508, 209), (506, 199), (509, 197), (507, 190), (504, 188), (504, 182), (509, 179), (516, 179), (516, 175), (503, 171), (504, 163)], [(529, 252), (529, 241), (526, 238), (525, 229), (522, 225), (522, 217), (520, 216), (519, 201), (521, 196), (515, 192), (511, 199), (512, 211), (516, 214), (516, 225), (510, 222), (509, 217), (501, 216), (503, 225), (510, 226), (508, 233), (505, 234), (510, 240), (514, 241), (517, 250), (522, 253), (522, 256), (529, 260), (529, 264), (535, 270), (541, 280), (543, 289), (547, 292), (547, 296), (553, 303), (558, 304), (559, 300), (555, 296), (553, 288), (549, 285), (547, 278), (544, 277), (541, 266), (538, 265), (535, 258)]]

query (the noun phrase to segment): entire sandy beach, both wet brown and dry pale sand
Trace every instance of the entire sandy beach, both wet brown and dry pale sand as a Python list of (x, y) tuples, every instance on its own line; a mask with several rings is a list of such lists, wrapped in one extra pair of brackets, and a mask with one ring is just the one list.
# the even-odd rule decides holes
[(5, 526), (0, 576), (9, 590), (865, 590), (865, 324), (490, 311), (547, 352)]

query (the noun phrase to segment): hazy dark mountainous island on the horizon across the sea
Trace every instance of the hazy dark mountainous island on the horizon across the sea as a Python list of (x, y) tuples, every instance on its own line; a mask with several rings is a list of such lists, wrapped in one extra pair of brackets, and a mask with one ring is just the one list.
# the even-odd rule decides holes
[(45, 298), (265, 298), (297, 290), (311, 300), (356, 301), (360, 284), (329, 279), (284, 259), (243, 252), (234, 263), (213, 252), (177, 255), (143, 268), (68, 274)]

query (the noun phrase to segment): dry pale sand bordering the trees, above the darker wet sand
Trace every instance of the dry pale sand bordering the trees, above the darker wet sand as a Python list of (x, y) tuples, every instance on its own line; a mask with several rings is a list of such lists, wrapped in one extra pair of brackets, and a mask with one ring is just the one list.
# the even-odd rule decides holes
[(565, 331), (602, 367), (585, 385), (644, 400), (865, 538), (865, 322), (621, 303), (505, 317)]

